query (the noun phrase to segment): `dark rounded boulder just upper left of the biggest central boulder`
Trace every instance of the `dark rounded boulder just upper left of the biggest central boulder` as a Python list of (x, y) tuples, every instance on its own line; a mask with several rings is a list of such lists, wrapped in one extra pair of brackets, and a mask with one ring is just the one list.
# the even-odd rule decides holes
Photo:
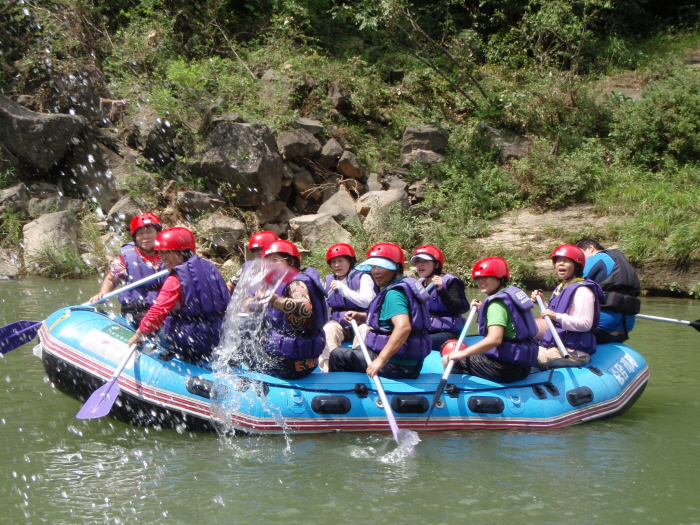
[(124, 130), (125, 142), (156, 165), (175, 159), (177, 131), (172, 123), (150, 106), (140, 106)]

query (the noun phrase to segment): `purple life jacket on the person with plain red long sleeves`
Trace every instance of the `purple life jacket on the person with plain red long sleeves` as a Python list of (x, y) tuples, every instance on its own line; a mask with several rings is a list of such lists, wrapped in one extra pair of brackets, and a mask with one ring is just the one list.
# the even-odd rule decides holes
[(219, 344), (221, 323), (231, 298), (214, 263), (192, 255), (173, 268), (180, 280), (182, 308), (170, 312), (162, 328), (169, 346), (184, 355), (207, 357)]

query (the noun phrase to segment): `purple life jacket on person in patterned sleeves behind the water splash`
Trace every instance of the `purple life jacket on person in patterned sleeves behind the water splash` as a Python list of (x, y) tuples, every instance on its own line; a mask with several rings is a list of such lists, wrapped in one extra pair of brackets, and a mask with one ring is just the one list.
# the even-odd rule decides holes
[(298, 273), (290, 283), (282, 283), (275, 293), (281, 297), (289, 297), (289, 286), (294, 281), (303, 282), (309, 290), (313, 324), (299, 330), (287, 321), (284, 312), (268, 306), (267, 325), (269, 332), (263, 338), (263, 348), (270, 355), (286, 357), (287, 359), (312, 359), (318, 357), (326, 346), (326, 334), (323, 325), (328, 322), (328, 305), (326, 294), (315, 269), (309, 267)]

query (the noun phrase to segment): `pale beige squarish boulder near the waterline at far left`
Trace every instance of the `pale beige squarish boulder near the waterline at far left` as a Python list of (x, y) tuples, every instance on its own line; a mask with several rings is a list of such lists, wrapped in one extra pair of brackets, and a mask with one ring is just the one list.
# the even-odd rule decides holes
[(78, 253), (78, 220), (69, 211), (47, 213), (25, 224), (24, 260), (30, 273), (36, 273), (33, 260), (49, 250), (68, 249)]

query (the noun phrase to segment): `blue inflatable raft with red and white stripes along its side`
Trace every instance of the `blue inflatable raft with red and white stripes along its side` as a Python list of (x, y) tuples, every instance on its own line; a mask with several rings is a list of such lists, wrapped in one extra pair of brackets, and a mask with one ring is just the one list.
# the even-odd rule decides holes
[[(112, 375), (133, 333), (120, 317), (65, 308), (42, 324), (35, 354), (57, 388), (85, 400)], [(467, 339), (473, 344), (478, 337)], [(110, 413), (133, 425), (249, 434), (389, 431), (365, 374), (315, 372), (286, 381), (240, 368), (215, 372), (157, 346), (134, 355), (119, 378), (121, 393)], [(418, 379), (382, 380), (401, 428), (551, 429), (611, 418), (642, 394), (649, 370), (632, 348), (606, 344), (588, 366), (531, 374), (508, 385), (453, 375), (426, 425), (441, 375), (440, 356), (433, 352)]]

